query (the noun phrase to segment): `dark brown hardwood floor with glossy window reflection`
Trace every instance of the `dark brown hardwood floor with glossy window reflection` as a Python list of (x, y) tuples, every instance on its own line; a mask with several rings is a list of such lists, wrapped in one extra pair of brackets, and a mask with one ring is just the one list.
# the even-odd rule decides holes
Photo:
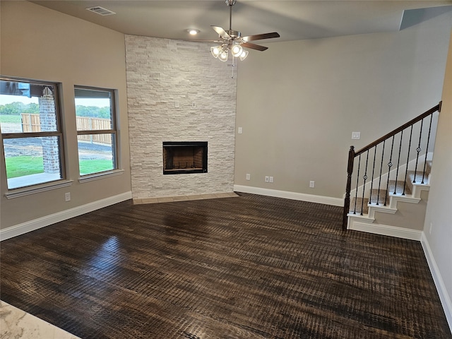
[(81, 338), (452, 338), (419, 242), (240, 195), (126, 201), (1, 242), (1, 299)]

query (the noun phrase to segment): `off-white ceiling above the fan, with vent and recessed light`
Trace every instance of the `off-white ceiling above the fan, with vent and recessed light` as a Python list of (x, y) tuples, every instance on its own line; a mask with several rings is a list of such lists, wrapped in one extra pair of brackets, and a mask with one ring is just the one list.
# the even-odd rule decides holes
[[(225, 0), (62, 0), (31, 1), (83, 20), (130, 35), (169, 39), (215, 40), (210, 25), (229, 28)], [(85, 8), (102, 6), (116, 12), (100, 16)], [(452, 0), (323, 1), (237, 0), (232, 29), (242, 35), (278, 32), (280, 38), (256, 41), (304, 40), (371, 32), (390, 32), (452, 10)], [(187, 28), (201, 32), (190, 37)]]

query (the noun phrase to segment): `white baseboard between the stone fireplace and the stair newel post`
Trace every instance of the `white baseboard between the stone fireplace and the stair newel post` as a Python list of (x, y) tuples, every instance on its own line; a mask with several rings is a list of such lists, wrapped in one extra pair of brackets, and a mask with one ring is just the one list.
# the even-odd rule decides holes
[(309, 201), (311, 203), (323, 203), (332, 206), (344, 206), (342, 198), (332, 198), (330, 196), (315, 196), (314, 194), (304, 194), (289, 191), (279, 191), (278, 189), (262, 189), (261, 187), (234, 185), (234, 191), (258, 194), (260, 196), (274, 196), (275, 198), (285, 198), (299, 201)]

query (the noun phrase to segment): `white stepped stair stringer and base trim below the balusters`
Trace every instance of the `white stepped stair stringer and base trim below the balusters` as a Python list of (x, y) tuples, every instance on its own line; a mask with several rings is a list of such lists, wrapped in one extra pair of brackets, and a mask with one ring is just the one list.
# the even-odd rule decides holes
[(362, 232), (420, 241), (422, 237), (422, 230), (412, 230), (410, 228), (398, 227), (395, 225), (384, 225), (375, 222), (376, 213), (396, 214), (398, 211), (399, 203), (418, 204), (423, 200), (421, 198), (422, 192), (428, 192), (430, 189), (429, 184), (410, 183), (410, 186), (411, 185), (412, 194), (407, 194), (405, 196), (402, 196), (400, 194), (389, 194), (389, 204), (387, 206), (383, 206), (382, 204), (376, 205), (376, 203), (369, 203), (367, 204), (369, 208), (369, 213), (367, 214), (359, 215), (348, 213), (347, 230), (358, 230)]

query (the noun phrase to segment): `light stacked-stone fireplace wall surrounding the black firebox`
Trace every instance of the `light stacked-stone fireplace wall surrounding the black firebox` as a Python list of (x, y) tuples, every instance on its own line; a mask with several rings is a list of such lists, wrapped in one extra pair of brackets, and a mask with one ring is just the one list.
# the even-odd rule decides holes
[[(227, 64), (209, 44), (126, 35), (133, 198), (233, 191), (237, 81)], [(207, 141), (208, 172), (164, 175), (163, 141)]]

